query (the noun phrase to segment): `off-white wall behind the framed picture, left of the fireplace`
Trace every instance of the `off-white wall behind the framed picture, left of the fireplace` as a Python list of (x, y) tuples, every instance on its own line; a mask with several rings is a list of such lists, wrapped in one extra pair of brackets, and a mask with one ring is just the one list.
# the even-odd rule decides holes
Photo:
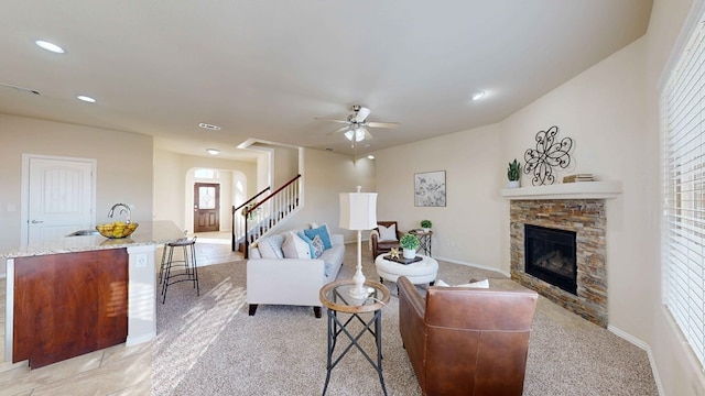
[[(375, 153), (378, 219), (397, 220), (402, 231), (429, 219), (434, 256), (500, 270), (499, 190), (507, 180), (500, 139), (495, 124)], [(415, 207), (414, 174), (435, 170), (446, 172), (446, 207)]]

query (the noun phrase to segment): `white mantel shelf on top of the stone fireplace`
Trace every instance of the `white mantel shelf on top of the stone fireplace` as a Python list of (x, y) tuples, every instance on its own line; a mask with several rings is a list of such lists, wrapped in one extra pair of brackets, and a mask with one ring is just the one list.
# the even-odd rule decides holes
[(502, 197), (521, 199), (611, 199), (621, 194), (621, 182), (578, 182), (550, 186), (505, 188)]

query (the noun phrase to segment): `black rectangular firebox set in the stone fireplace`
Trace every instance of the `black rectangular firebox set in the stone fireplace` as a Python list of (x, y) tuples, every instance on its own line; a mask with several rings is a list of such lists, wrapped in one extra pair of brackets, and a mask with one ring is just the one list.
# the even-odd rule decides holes
[(577, 295), (575, 232), (524, 224), (527, 274)]

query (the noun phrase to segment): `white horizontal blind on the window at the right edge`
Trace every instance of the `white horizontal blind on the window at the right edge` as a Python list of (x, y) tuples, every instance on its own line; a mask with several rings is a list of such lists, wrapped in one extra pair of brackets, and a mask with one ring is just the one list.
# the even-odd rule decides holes
[(705, 23), (662, 96), (664, 304), (705, 366)]

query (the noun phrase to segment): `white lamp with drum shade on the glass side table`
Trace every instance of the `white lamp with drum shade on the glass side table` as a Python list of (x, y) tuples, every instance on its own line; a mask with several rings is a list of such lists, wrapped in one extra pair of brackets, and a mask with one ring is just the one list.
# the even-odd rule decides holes
[(362, 230), (371, 230), (377, 227), (377, 193), (340, 193), (340, 228), (357, 230), (357, 270), (352, 280), (355, 287), (350, 290), (350, 297), (362, 299), (368, 296), (365, 288), (365, 275), (362, 275)]

